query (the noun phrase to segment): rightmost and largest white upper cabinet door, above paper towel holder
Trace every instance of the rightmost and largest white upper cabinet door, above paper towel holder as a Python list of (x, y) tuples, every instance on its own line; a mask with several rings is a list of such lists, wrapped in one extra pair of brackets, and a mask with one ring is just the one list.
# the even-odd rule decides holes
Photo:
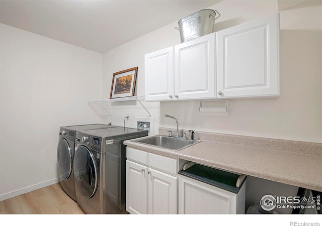
[(218, 98), (279, 96), (279, 14), (216, 36)]

